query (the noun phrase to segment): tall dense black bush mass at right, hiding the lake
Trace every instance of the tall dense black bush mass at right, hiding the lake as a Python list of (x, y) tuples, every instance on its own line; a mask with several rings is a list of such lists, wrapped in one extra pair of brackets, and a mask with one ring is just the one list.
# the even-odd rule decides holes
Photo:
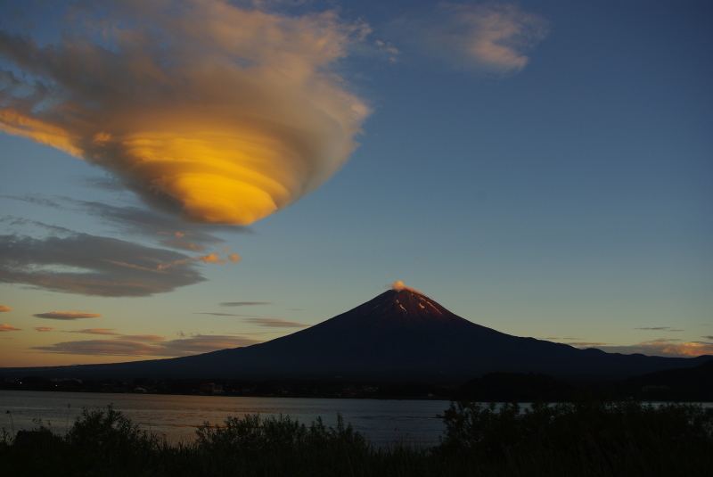
[(451, 403), (444, 456), (580, 475), (706, 475), (713, 409), (694, 404), (582, 402), (553, 406)]

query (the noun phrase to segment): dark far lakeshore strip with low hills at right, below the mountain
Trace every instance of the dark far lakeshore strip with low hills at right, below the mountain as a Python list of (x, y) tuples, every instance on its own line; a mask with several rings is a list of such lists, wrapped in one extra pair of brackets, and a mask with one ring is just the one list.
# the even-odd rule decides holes
[(541, 373), (490, 373), (453, 385), (429, 382), (348, 382), (325, 380), (240, 380), (137, 378), (48, 379), (0, 377), (0, 389), (17, 391), (148, 392), (250, 397), (351, 399), (470, 399), (480, 402), (573, 402), (583, 399), (713, 401), (713, 359), (692, 368), (672, 369), (620, 382), (568, 382)]

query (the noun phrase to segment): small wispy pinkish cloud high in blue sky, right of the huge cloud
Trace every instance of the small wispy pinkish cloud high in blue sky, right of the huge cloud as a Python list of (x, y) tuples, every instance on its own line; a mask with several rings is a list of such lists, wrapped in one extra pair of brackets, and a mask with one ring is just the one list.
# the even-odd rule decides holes
[(525, 53), (547, 36), (548, 22), (515, 4), (440, 3), (390, 29), (403, 45), (456, 70), (509, 75), (528, 64)]

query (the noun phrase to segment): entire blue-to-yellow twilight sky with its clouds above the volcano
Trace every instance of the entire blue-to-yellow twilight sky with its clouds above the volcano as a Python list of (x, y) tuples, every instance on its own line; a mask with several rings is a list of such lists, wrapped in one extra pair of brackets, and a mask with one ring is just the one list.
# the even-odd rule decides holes
[(397, 280), (713, 354), (713, 5), (0, 4), (0, 366), (294, 333)]

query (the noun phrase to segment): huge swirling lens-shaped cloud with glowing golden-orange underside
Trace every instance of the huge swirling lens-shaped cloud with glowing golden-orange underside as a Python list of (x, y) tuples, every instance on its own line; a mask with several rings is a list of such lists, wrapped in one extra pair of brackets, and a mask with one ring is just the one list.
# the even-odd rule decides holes
[(97, 14), (111, 11), (108, 48), (94, 30), (44, 47), (0, 30), (0, 57), (53, 84), (10, 73), (17, 86), (4, 92), (0, 130), (107, 169), (162, 210), (214, 224), (248, 225), (283, 209), (354, 151), (370, 111), (331, 67), (369, 32), (364, 24), (223, 0), (94, 4)]

